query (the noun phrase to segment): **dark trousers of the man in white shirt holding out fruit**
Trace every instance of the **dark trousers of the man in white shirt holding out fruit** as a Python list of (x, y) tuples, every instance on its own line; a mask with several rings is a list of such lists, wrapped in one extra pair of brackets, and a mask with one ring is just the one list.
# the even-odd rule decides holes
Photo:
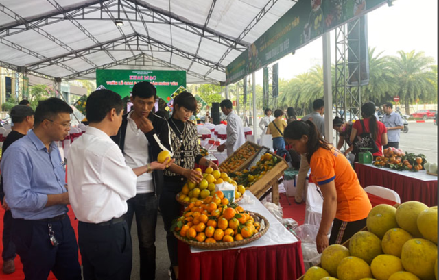
[(132, 244), (126, 221), (111, 225), (78, 224), (84, 280), (128, 280)]

